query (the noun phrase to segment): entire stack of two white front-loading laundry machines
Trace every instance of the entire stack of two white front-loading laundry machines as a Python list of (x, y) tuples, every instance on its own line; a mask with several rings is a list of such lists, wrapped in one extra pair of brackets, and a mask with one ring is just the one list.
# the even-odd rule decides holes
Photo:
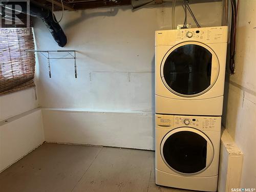
[(156, 184), (216, 191), (227, 26), (156, 31)]

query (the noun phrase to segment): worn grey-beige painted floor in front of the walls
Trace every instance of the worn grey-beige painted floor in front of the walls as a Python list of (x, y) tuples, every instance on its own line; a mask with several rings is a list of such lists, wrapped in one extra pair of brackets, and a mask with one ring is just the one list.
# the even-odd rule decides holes
[(5, 192), (188, 190), (155, 184), (154, 152), (44, 143), (0, 174)]

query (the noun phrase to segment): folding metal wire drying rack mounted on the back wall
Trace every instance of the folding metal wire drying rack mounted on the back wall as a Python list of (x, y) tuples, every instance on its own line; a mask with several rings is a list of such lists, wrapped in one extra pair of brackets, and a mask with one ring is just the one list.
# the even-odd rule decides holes
[[(27, 52), (39, 52), (42, 55), (44, 55), (47, 58), (47, 62), (48, 62), (48, 71), (49, 71), (49, 77), (51, 78), (51, 65), (50, 65), (50, 60), (51, 59), (74, 59), (74, 68), (75, 68), (75, 78), (77, 78), (77, 71), (76, 71), (76, 51), (75, 50), (56, 50), (56, 51), (40, 51), (40, 50), (25, 50)], [(71, 57), (50, 57), (49, 53), (53, 53), (53, 52), (66, 52), (69, 53), (69, 55)], [(47, 53), (47, 55), (45, 54)], [(73, 53), (73, 54), (72, 54)]]

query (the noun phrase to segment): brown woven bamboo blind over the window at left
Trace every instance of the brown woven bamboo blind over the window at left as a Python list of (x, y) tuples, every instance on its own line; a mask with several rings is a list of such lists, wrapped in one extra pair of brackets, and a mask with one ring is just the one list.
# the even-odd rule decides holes
[(35, 54), (25, 50), (34, 50), (31, 28), (0, 28), (0, 95), (35, 87)]

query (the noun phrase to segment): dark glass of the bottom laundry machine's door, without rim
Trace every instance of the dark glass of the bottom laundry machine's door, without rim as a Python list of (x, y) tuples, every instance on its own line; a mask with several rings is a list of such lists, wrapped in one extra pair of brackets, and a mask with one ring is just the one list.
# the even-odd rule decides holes
[(199, 134), (180, 131), (163, 144), (163, 158), (174, 170), (193, 174), (206, 167), (207, 141)]

